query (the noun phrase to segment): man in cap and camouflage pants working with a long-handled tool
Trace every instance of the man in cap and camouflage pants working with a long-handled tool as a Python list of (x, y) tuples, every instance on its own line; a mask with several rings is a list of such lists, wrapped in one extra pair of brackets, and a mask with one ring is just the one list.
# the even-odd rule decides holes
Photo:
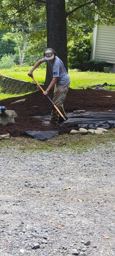
[[(56, 52), (52, 48), (48, 48), (44, 52), (44, 57), (38, 60), (33, 68), (28, 73), (29, 76), (33, 75), (33, 71), (41, 65), (43, 62), (48, 62), (48, 66), (50, 72), (52, 74), (52, 81), (49, 84), (47, 90), (43, 92), (44, 95), (47, 95), (49, 91), (55, 86), (54, 88), (54, 97), (53, 102), (58, 107), (64, 118), (67, 120), (68, 117), (65, 114), (63, 108), (63, 102), (66, 98), (66, 94), (70, 85), (70, 77), (68, 76), (63, 62), (56, 56)], [(52, 124), (57, 124), (58, 122), (62, 122), (62, 118), (59, 117), (58, 112), (53, 109), (51, 113), (51, 120)]]

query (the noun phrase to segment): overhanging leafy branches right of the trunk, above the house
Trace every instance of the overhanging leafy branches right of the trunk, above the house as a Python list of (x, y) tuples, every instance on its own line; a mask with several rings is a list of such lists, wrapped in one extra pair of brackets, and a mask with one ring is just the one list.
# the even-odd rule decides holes
[[(87, 4), (88, 2), (88, 4)], [(90, 3), (89, 3), (90, 2)], [(83, 5), (83, 6), (82, 6)], [(94, 27), (94, 15), (99, 14), (98, 23), (108, 24), (109, 26), (115, 21), (114, 0), (85, 1), (85, 0), (65, 0), (67, 19), (69, 22), (76, 23), (76, 26), (87, 25)], [(73, 11), (74, 10), (74, 11)], [(73, 11), (71, 14), (69, 14)]]

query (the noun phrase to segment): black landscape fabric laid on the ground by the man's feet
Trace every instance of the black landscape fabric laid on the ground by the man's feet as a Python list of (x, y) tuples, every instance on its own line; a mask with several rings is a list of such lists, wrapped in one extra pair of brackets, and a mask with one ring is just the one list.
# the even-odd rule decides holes
[[(96, 129), (103, 127), (109, 129), (115, 127), (115, 112), (86, 112), (82, 114), (69, 114), (68, 120), (59, 124), (66, 127), (85, 127), (86, 129)], [(54, 137), (59, 131), (25, 131), (22, 135), (29, 135), (37, 140), (47, 140)]]

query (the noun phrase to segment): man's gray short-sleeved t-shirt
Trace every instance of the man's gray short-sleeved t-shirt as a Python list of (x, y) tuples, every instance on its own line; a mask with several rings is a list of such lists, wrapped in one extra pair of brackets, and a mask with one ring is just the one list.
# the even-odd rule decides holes
[(55, 56), (53, 62), (46, 60), (45, 57), (41, 60), (42, 62), (48, 62), (48, 65), (51, 67), (52, 70), (52, 77), (58, 78), (56, 81), (57, 86), (66, 87), (67, 84), (70, 83), (70, 77), (68, 76), (61, 59)]

